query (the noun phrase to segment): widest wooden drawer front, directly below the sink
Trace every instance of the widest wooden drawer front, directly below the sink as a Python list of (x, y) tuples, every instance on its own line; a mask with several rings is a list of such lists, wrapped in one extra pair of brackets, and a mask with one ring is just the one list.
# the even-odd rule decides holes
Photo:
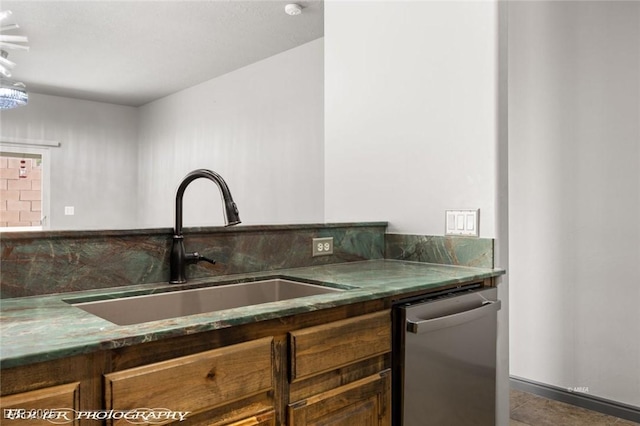
[(272, 337), (105, 375), (108, 410), (197, 413), (272, 389)]

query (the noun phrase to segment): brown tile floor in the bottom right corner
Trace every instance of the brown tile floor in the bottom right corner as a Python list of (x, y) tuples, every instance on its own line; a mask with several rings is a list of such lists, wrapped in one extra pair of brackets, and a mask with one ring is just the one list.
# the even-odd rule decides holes
[(630, 426), (640, 425), (585, 408), (511, 389), (510, 426)]

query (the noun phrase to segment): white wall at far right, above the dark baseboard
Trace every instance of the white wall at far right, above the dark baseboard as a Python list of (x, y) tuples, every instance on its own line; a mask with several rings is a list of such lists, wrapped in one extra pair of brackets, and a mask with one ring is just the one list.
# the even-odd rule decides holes
[(511, 373), (640, 406), (640, 3), (509, 9)]

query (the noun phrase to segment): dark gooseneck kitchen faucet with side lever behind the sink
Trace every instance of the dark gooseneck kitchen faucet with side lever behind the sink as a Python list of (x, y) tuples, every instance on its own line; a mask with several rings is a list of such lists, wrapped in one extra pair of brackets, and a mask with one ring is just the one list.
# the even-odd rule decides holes
[(222, 201), (224, 203), (224, 219), (226, 226), (237, 225), (240, 223), (238, 207), (231, 198), (231, 192), (222, 176), (207, 169), (194, 170), (182, 179), (178, 191), (176, 192), (176, 226), (173, 229), (173, 245), (171, 246), (171, 259), (169, 266), (171, 269), (171, 277), (169, 282), (172, 284), (186, 283), (185, 267), (188, 263), (198, 263), (199, 261), (216, 263), (215, 260), (206, 258), (200, 253), (185, 253), (184, 236), (182, 235), (182, 197), (187, 186), (198, 178), (207, 178), (212, 180), (220, 188)]

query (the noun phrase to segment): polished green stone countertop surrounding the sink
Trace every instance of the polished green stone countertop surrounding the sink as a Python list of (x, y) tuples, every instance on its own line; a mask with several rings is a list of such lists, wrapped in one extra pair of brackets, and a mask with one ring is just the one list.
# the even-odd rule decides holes
[[(367, 300), (399, 298), (407, 293), (433, 291), (439, 287), (502, 274), (504, 271), (501, 269), (371, 260), (225, 275), (193, 280), (185, 285), (142, 284), (6, 299), (0, 301), (0, 362), (2, 368), (16, 367)], [(126, 326), (115, 325), (65, 302), (70, 299), (98, 300), (274, 277), (325, 284), (345, 291)]]

